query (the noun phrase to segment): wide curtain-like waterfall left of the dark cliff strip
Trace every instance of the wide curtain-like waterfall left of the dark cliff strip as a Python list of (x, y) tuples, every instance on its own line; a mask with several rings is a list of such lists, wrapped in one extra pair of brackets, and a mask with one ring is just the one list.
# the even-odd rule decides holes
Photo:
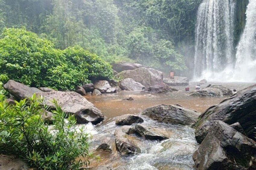
[(232, 67), (234, 8), (234, 0), (203, 0), (200, 4), (195, 30), (196, 78), (214, 79), (216, 73)]

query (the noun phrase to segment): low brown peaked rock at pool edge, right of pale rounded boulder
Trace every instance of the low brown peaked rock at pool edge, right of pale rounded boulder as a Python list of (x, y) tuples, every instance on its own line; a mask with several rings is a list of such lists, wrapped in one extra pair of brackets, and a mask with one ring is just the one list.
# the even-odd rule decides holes
[(149, 86), (142, 93), (171, 93), (173, 91), (178, 91), (175, 88), (169, 87), (167, 84), (160, 82), (155, 85)]

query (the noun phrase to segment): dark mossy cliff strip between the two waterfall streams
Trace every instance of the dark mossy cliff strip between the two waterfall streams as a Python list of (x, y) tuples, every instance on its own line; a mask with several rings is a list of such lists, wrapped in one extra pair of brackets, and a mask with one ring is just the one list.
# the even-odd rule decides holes
[(234, 38), (235, 46), (238, 44), (240, 36), (245, 28), (246, 22), (246, 7), (249, 3), (249, 0), (235, 0), (235, 23), (234, 23)]

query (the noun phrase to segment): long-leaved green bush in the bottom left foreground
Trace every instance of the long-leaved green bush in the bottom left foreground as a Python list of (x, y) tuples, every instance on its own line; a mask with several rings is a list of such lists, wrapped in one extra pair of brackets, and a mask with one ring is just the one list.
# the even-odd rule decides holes
[(88, 134), (76, 130), (76, 119), (64, 113), (57, 102), (53, 125), (45, 124), (42, 98), (10, 105), (0, 102), (0, 152), (13, 154), (37, 169), (67, 170), (87, 165)]

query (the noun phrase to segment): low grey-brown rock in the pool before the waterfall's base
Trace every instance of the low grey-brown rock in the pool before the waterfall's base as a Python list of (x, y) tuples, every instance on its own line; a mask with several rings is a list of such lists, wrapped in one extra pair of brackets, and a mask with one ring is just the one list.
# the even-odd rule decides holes
[(231, 96), (233, 93), (229, 88), (222, 85), (211, 85), (202, 90), (190, 92), (190, 96)]

